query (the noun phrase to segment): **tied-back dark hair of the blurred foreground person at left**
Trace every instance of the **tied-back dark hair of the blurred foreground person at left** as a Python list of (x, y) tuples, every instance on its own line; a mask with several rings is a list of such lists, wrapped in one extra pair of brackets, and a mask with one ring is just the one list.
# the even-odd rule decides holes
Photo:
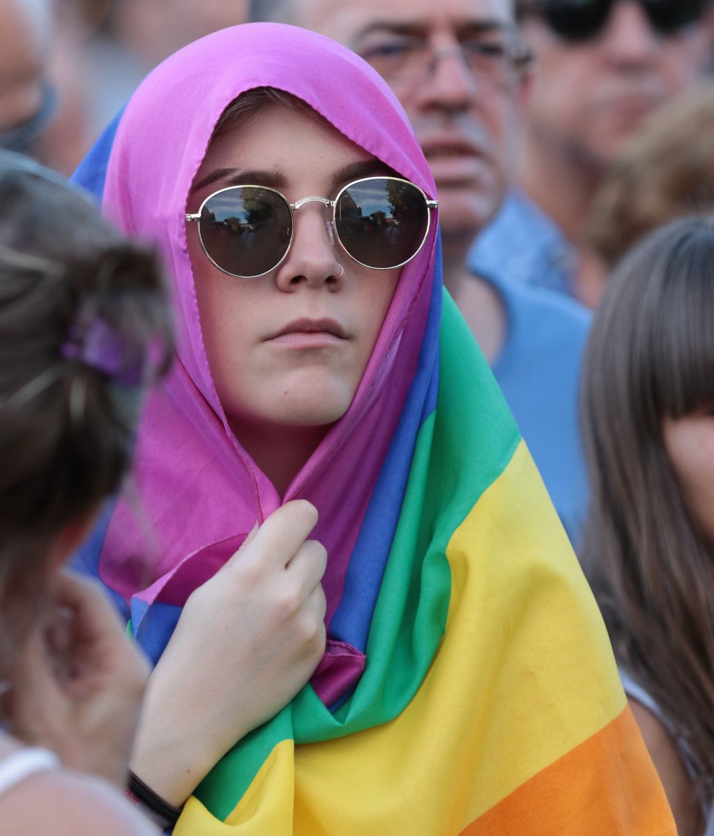
[[(12, 647), (32, 619), (53, 538), (119, 488), (141, 395), (165, 370), (171, 338), (154, 254), (58, 178), (8, 160), (0, 157), (0, 635)], [(107, 371), (88, 362), (84, 330), (97, 321), (140, 370), (134, 379), (120, 363)]]

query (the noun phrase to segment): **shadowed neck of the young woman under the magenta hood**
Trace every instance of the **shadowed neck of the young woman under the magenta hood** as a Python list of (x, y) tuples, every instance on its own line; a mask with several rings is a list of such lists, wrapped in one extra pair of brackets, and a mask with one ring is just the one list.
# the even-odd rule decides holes
[(284, 497), (329, 426), (272, 426), (252, 421), (230, 422), (241, 446)]

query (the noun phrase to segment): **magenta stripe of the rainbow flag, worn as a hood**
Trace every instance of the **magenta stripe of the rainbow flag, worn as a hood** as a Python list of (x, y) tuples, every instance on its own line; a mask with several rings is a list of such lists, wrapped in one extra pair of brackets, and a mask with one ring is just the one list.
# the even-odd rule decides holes
[[(210, 85), (195, 84), (199, 77), (211, 79)], [(256, 519), (262, 522), (281, 504), (230, 431), (215, 393), (184, 218), (216, 121), (239, 94), (262, 86), (305, 100), (348, 139), (436, 196), (391, 90), (362, 59), (315, 33), (269, 23), (224, 29), (167, 59), (139, 86), (114, 140), (103, 210), (125, 232), (160, 248), (179, 344), (173, 372), (149, 399), (133, 484), (110, 520), (99, 562), (104, 582), (127, 600), (183, 604), (238, 548)], [(323, 582), (328, 628), (416, 370), (432, 292), (435, 227), (418, 257), (403, 268), (350, 409), (284, 497), (304, 497), (320, 513), (312, 536), (328, 553)], [(329, 704), (354, 683), (364, 664), (359, 650), (331, 642), (313, 686)]]

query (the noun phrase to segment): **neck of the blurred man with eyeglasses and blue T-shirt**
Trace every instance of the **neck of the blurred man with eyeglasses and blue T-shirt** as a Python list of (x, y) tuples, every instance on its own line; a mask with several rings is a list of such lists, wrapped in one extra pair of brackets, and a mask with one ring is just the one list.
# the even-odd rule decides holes
[(442, 231), (443, 283), (486, 359), (493, 364), (503, 347), (507, 323), (499, 294), (468, 269), (472, 243), (473, 239), (464, 242), (461, 237), (452, 241)]

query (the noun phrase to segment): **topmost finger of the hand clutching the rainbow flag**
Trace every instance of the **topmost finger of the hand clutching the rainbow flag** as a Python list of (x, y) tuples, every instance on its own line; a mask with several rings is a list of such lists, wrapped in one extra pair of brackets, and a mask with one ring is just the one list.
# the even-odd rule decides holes
[(257, 560), (285, 567), (316, 524), (317, 509), (310, 502), (305, 499), (286, 502), (267, 517), (249, 547), (242, 553), (239, 549), (226, 563), (226, 568), (235, 564), (239, 553), (243, 558), (251, 555)]

